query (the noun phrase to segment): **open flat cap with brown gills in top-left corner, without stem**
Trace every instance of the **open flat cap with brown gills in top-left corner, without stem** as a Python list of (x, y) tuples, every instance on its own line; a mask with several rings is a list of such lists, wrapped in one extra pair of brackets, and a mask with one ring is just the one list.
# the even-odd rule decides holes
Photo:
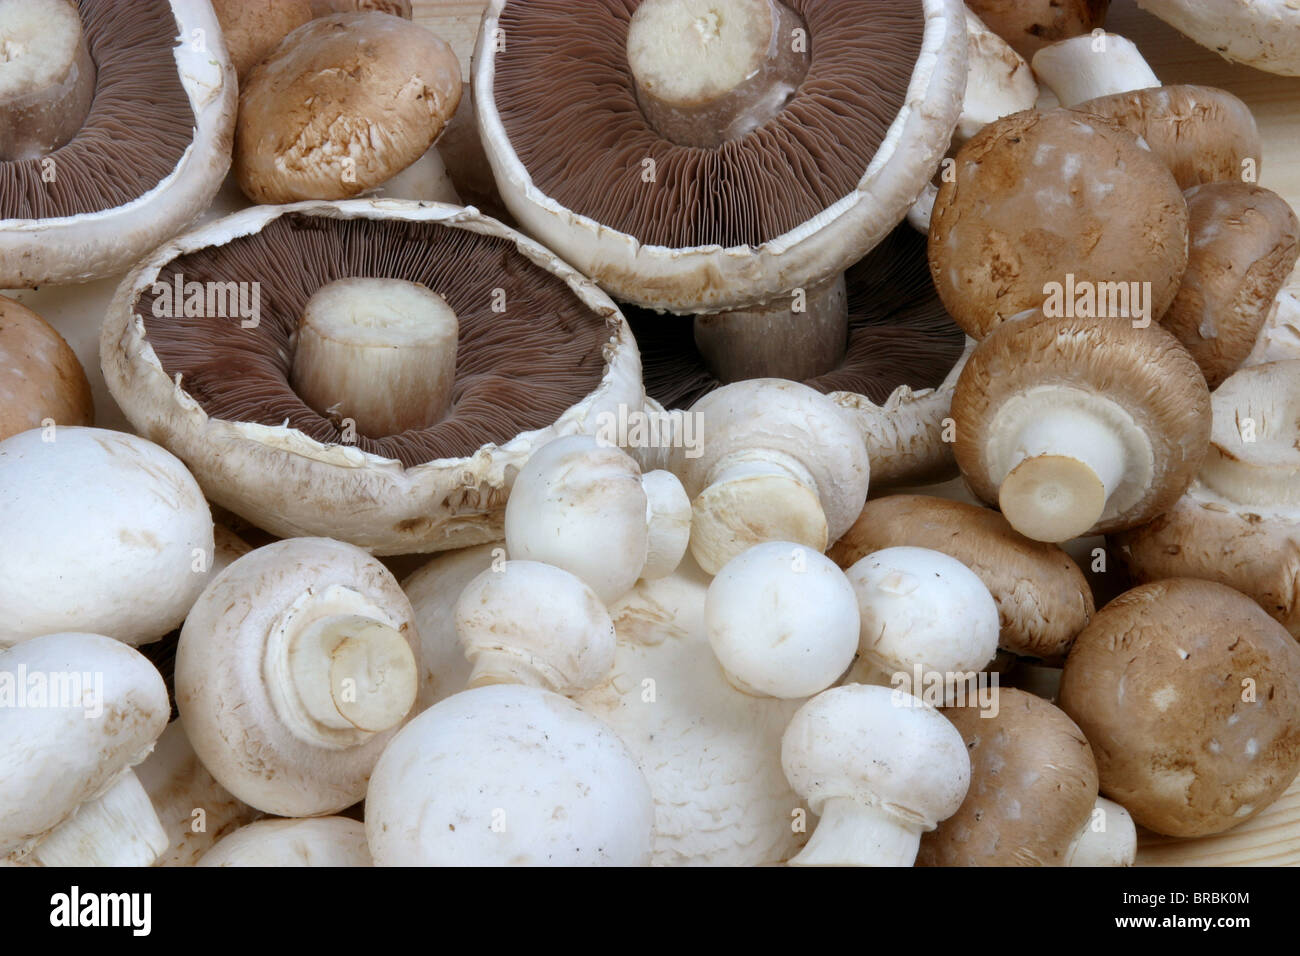
[(208, 0), (79, 7), (95, 100), (62, 147), (0, 163), (0, 287), (124, 272), (194, 222), (230, 168), (235, 74)]

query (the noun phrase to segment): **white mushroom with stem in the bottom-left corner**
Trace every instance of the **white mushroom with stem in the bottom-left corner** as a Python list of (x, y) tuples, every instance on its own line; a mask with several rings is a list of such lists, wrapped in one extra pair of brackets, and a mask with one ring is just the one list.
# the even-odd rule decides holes
[(95, 633), (0, 650), (0, 857), (148, 866), (168, 838), (131, 767), (166, 727), (162, 678)]

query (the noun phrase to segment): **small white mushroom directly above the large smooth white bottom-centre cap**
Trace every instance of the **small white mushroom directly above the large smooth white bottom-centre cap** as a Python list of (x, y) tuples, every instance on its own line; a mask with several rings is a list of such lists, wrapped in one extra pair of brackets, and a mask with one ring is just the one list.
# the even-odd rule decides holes
[(614, 666), (614, 623), (601, 598), (550, 564), (507, 561), (484, 571), (460, 593), (455, 617), (471, 687), (519, 683), (569, 696)]

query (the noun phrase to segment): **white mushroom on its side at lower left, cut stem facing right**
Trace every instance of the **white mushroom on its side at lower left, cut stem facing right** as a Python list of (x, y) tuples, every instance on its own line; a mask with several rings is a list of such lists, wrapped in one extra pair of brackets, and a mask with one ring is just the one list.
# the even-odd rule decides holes
[(393, 575), (351, 545), (292, 538), (217, 575), (190, 610), (176, 697), (212, 775), (281, 817), (337, 813), (415, 702), (419, 637)]

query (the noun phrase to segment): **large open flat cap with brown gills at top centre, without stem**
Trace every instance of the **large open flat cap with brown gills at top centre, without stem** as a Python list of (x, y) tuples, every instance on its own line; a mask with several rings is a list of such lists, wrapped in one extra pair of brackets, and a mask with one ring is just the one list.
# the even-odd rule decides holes
[[(961, 112), (957, 0), (790, 0), (812, 57), (794, 98), (719, 150), (679, 146), (637, 107), (624, 49), (632, 5), (592, 7), (575, 20), (567, 0), (491, 0), (474, 101), (521, 226), (647, 308), (736, 308), (842, 272), (902, 221)], [(556, 78), (573, 90), (555, 95)], [(649, 186), (644, 160), (655, 168)]]

